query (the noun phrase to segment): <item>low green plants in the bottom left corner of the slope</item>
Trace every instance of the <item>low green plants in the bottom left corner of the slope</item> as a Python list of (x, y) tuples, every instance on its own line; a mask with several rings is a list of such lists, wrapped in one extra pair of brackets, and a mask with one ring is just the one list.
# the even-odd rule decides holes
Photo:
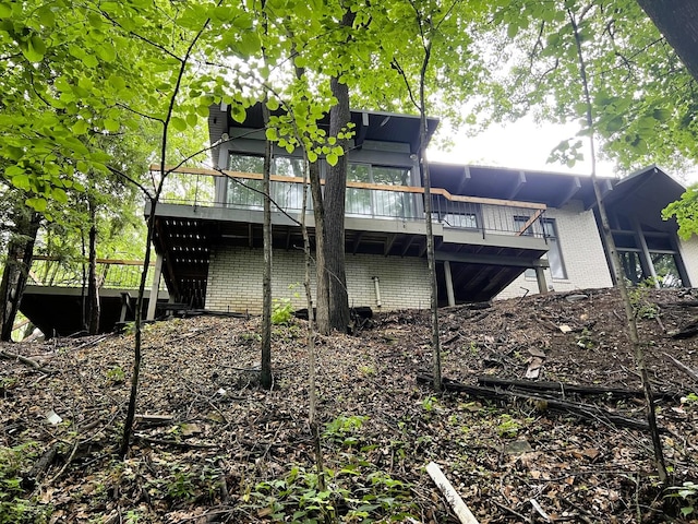
[(36, 456), (38, 444), (0, 446), (0, 524), (41, 524), (48, 522), (51, 508), (25, 498), (22, 471)]

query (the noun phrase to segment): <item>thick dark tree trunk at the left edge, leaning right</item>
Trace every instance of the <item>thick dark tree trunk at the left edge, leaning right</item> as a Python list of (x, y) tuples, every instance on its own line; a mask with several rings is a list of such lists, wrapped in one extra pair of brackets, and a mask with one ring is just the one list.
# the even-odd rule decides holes
[[(0, 281), (0, 340), (12, 340), (12, 326), (26, 287), (34, 243), (41, 216), (19, 203), (14, 213), (14, 231), (8, 245), (8, 259)], [(47, 333), (50, 335), (50, 333)]]

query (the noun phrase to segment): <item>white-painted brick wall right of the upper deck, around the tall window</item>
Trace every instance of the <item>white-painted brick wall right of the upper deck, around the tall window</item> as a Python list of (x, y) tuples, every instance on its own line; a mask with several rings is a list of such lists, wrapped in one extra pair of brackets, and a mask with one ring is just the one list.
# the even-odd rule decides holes
[[(581, 202), (571, 201), (559, 210), (549, 209), (545, 217), (555, 219), (557, 242), (567, 274), (564, 279), (553, 278), (550, 270), (545, 270), (547, 286), (556, 291), (612, 286), (593, 213), (585, 211)], [(529, 294), (537, 294), (535, 277), (519, 276), (496, 298), (521, 296), (525, 293), (521, 288), (529, 289)]]

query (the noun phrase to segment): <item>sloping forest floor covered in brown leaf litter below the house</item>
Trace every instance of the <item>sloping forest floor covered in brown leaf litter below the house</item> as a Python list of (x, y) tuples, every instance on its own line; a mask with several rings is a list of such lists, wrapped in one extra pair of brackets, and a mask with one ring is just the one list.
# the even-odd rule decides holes
[[(418, 381), (432, 368), (425, 311), (317, 336), (324, 491), (308, 424), (304, 321), (274, 326), (273, 391), (257, 385), (258, 319), (147, 325), (125, 460), (117, 450), (132, 335), (2, 345), (0, 523), (458, 522), (430, 462), (480, 523), (698, 522), (698, 485), (684, 486), (698, 483), (698, 381), (671, 359), (698, 369), (698, 337), (671, 336), (696, 321), (698, 290), (634, 297), (675, 487), (663, 493), (647, 430), (611, 421), (642, 422), (645, 409), (641, 397), (607, 392), (640, 380), (616, 291), (601, 289), (441, 310), (445, 378), (558, 391), (519, 384), (489, 400), (507, 393), (485, 381), (434, 393)], [(583, 406), (571, 413), (561, 402)]]

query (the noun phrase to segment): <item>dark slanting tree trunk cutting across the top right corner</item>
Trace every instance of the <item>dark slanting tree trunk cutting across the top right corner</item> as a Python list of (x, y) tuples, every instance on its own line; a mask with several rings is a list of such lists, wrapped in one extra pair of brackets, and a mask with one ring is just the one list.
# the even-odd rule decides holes
[(698, 81), (698, 3), (696, 0), (637, 0)]

